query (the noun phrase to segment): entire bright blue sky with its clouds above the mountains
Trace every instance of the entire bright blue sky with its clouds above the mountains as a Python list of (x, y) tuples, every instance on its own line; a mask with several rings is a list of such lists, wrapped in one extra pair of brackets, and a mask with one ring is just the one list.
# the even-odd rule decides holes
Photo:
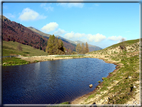
[(3, 15), (26, 27), (106, 48), (140, 38), (139, 3), (3, 3)]

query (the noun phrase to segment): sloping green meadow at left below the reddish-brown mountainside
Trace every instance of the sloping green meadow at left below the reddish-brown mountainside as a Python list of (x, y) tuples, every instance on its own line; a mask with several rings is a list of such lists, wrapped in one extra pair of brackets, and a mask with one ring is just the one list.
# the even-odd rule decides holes
[(17, 50), (18, 42), (3, 41), (2, 42), (2, 56), (9, 56), (10, 54), (23, 55), (23, 56), (39, 56), (47, 55), (43, 50), (35, 49), (28, 45), (21, 44), (22, 51)]

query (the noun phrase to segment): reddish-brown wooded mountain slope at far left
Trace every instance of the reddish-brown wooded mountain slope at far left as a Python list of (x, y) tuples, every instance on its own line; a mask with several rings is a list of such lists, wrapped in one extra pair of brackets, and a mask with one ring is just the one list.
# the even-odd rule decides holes
[(46, 49), (48, 39), (41, 37), (20, 23), (10, 21), (5, 16), (0, 18), (2, 20), (2, 40), (16, 41), (41, 50)]

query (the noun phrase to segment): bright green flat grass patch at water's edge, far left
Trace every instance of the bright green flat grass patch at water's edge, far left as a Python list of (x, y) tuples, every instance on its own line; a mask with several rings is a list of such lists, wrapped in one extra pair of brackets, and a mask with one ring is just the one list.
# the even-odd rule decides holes
[(21, 60), (20, 58), (2, 58), (3, 66), (12, 66), (12, 65), (23, 65), (29, 64), (30, 62)]

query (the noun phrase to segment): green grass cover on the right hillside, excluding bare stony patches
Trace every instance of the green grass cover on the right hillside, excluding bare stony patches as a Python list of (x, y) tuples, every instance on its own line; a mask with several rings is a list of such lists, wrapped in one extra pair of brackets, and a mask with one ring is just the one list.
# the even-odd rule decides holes
[[(129, 46), (132, 45), (132, 49), (131, 50), (135, 50), (138, 51), (139, 47), (138, 45), (133, 45), (135, 43), (137, 43), (139, 41), (139, 39), (136, 40), (129, 40), (129, 41), (125, 41), (125, 45)], [(115, 47), (120, 46), (121, 43), (112, 45), (110, 47), (107, 47), (103, 50), (98, 50), (98, 51), (94, 51), (94, 52), (89, 52), (90, 54), (103, 54), (106, 55), (107, 51), (109, 49), (114, 49)], [(134, 52), (135, 52), (134, 51)], [(108, 91), (108, 93), (106, 94), (102, 94), (100, 97), (101, 99), (104, 99), (106, 97), (109, 96), (109, 101), (107, 102), (107, 104), (125, 104), (130, 98), (134, 97), (135, 93), (135, 88), (133, 88), (131, 90), (132, 87), (137, 86), (135, 84), (136, 81), (139, 81), (139, 55), (128, 55), (129, 53), (132, 52), (127, 52), (127, 51), (123, 51), (123, 52), (113, 52), (111, 54), (107, 54), (105, 58), (114, 60), (114, 61), (120, 61), (118, 63), (122, 63), (123, 66), (115, 73), (111, 73), (111, 77), (110, 78), (102, 78), (102, 86), (101, 88), (96, 91), (95, 93), (93, 93), (92, 95), (90, 95), (85, 102), (87, 103), (87, 101), (90, 98), (94, 98), (96, 97), (96, 94), (100, 94), (103, 91)], [(111, 84), (118, 82), (116, 85), (114, 85), (113, 87), (111, 87), (110, 89), (108, 89), (109, 86), (111, 86)], [(95, 101), (94, 101), (95, 102)]]

